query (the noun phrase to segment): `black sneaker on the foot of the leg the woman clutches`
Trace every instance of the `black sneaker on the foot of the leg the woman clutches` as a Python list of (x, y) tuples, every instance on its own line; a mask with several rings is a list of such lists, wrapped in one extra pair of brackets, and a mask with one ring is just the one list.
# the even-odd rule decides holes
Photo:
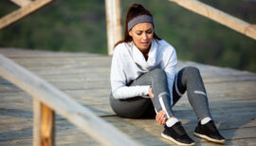
[(194, 145), (194, 141), (187, 135), (180, 121), (176, 122), (172, 127), (165, 125), (161, 136), (173, 141), (177, 145)]

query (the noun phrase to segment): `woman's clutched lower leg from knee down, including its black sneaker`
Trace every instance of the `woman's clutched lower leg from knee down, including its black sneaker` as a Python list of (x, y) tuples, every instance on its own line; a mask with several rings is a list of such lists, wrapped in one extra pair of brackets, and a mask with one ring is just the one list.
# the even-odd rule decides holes
[(155, 69), (149, 73), (152, 91), (154, 93), (152, 102), (154, 104), (155, 111), (165, 111), (165, 116), (167, 119), (161, 136), (172, 140), (176, 144), (193, 145), (194, 141), (187, 135), (186, 131), (181, 125), (181, 122), (174, 118), (171, 106), (170, 90), (165, 71), (162, 69)]

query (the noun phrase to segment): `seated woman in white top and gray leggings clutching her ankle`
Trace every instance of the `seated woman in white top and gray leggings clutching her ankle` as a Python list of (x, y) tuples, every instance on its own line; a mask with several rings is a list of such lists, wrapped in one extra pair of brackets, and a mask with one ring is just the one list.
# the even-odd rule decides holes
[(185, 67), (175, 73), (175, 49), (157, 37), (154, 27), (153, 16), (147, 9), (138, 4), (128, 9), (124, 39), (115, 46), (111, 65), (113, 110), (120, 117), (139, 118), (155, 109), (155, 120), (164, 125), (162, 137), (179, 145), (193, 145), (172, 111), (175, 102), (187, 91), (199, 121), (194, 135), (224, 143), (211, 119), (199, 70)]

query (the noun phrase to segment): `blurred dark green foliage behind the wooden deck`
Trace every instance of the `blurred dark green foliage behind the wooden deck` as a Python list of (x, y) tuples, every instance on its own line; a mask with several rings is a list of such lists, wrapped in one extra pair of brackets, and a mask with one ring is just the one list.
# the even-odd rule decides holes
[[(255, 0), (200, 0), (256, 24)], [(168, 0), (120, 0), (126, 10), (142, 4), (155, 19), (155, 32), (176, 49), (179, 60), (256, 72), (256, 41)], [(0, 1), (0, 17), (18, 9)], [(0, 47), (107, 54), (104, 0), (56, 0), (0, 30)]]

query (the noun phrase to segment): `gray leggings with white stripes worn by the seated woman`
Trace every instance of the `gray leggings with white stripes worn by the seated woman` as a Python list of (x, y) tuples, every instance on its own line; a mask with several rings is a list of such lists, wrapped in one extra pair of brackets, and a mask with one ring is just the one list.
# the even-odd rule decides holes
[(174, 117), (172, 107), (186, 91), (197, 119), (201, 120), (210, 117), (206, 89), (200, 72), (196, 67), (185, 67), (177, 73), (174, 79), (173, 100), (170, 98), (166, 73), (162, 69), (151, 70), (128, 85), (151, 85), (154, 98), (151, 100), (134, 97), (117, 100), (111, 94), (111, 107), (120, 117), (136, 119), (150, 116), (154, 110), (156, 113), (164, 110), (166, 111), (166, 119), (169, 119)]

